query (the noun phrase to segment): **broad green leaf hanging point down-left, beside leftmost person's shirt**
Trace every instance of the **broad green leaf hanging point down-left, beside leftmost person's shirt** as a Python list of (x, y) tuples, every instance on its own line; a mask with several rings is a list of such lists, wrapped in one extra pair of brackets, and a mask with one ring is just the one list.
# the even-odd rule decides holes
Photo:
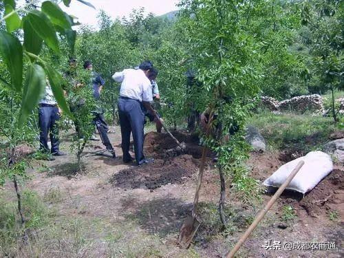
[(44, 69), (37, 64), (31, 65), (26, 74), (25, 85), (23, 91), (23, 98), (21, 100), (21, 114), (19, 116), (19, 127), (22, 127), (24, 122), (28, 120), (28, 116), (32, 110), (39, 103), (47, 81), (45, 78)]

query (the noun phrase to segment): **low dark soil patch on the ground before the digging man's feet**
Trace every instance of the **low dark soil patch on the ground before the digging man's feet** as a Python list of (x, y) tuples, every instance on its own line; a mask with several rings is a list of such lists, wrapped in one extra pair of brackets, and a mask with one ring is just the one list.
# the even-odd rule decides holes
[(180, 155), (171, 160), (155, 160), (153, 164), (119, 171), (110, 182), (124, 189), (156, 189), (169, 183), (181, 184), (195, 174), (197, 163), (191, 155)]

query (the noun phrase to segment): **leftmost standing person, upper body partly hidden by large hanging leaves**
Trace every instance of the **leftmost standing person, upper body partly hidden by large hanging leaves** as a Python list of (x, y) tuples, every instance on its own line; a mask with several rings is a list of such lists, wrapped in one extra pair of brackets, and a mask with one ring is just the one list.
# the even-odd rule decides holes
[[(52, 88), (47, 80), (43, 98), (39, 101), (39, 145), (43, 152), (49, 152), (54, 156), (66, 155), (59, 150), (57, 121), (60, 119), (61, 109), (58, 108)], [(50, 134), (51, 150), (47, 145), (48, 134)], [(54, 158), (50, 158), (54, 160)]]

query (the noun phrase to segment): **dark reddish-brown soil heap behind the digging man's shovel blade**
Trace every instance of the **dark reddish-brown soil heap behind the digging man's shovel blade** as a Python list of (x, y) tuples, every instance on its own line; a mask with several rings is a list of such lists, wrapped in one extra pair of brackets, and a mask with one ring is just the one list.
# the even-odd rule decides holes
[[(201, 158), (202, 146), (198, 145), (200, 138), (197, 135), (181, 131), (173, 131), (172, 134), (179, 142), (185, 142), (186, 154), (192, 155), (193, 158)], [(178, 144), (167, 133), (151, 131), (144, 137), (144, 154), (150, 157), (164, 159), (180, 155), (180, 152), (175, 151), (177, 147)]]

